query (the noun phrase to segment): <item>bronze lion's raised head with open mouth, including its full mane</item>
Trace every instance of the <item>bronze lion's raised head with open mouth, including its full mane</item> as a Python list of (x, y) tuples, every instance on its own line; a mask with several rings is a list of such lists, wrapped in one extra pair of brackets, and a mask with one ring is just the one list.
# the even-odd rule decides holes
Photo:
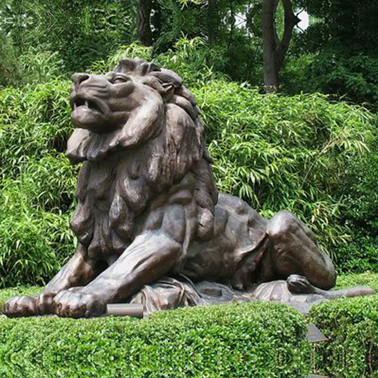
[(81, 243), (93, 253), (125, 248), (151, 200), (188, 172), (197, 180), (197, 236), (211, 237), (217, 190), (199, 108), (182, 79), (154, 63), (122, 59), (106, 75), (72, 80), (76, 129), (67, 156), (84, 162), (71, 222)]

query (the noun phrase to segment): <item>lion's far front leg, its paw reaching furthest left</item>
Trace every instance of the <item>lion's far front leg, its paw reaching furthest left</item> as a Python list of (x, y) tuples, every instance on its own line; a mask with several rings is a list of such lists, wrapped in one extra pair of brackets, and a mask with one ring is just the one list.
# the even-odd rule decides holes
[(28, 317), (52, 313), (52, 300), (61, 290), (85, 285), (96, 275), (95, 261), (89, 260), (86, 248), (79, 245), (71, 260), (46, 285), (42, 293), (15, 296), (5, 304), (3, 311), (8, 317)]

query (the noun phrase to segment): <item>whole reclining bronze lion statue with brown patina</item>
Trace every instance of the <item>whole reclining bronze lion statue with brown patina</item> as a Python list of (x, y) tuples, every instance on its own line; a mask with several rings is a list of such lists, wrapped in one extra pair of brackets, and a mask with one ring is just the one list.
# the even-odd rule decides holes
[[(199, 109), (174, 72), (123, 59), (107, 75), (72, 80), (67, 156), (83, 162), (71, 222), (79, 245), (42, 293), (6, 302), (9, 317), (100, 316), (122, 302), (151, 312), (292, 301), (335, 285), (330, 258), (298, 218), (283, 211), (266, 220), (218, 195)], [(272, 284), (256, 288), (279, 279), (287, 280), (273, 283), (281, 299), (269, 296)]]

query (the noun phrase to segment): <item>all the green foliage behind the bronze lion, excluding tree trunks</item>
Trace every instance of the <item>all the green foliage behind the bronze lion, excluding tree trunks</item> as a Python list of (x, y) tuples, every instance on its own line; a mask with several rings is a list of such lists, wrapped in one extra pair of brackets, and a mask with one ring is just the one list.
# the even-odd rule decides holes
[[(378, 2), (292, 0), (310, 24), (294, 30), (272, 96), (261, 94), (260, 0), (151, 4), (145, 47), (137, 0), (0, 0), (0, 286), (44, 283), (72, 255), (70, 76), (123, 56), (184, 78), (222, 191), (268, 218), (294, 212), (340, 272), (378, 270)], [(279, 34), (283, 18), (279, 3)]]

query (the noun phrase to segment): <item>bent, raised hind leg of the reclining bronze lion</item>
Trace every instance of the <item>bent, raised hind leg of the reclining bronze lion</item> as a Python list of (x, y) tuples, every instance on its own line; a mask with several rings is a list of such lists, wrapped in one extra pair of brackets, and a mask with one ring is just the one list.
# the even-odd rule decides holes
[[(277, 213), (268, 223), (269, 253), (273, 270), (279, 278), (296, 274), (304, 276), (309, 284), (331, 289), (336, 283), (336, 272), (329, 256), (318, 246), (311, 230), (287, 211)], [(292, 281), (292, 282), (291, 282)], [(289, 279), (293, 291), (301, 288), (301, 281)], [(310, 287), (309, 287), (310, 289)]]

